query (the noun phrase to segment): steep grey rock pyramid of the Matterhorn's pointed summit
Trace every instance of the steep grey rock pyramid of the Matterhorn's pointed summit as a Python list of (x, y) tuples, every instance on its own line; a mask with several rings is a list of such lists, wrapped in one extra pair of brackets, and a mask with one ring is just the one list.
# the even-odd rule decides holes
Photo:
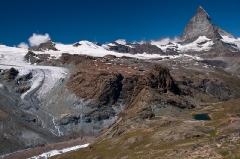
[(205, 35), (211, 26), (212, 22), (210, 16), (201, 6), (199, 6), (197, 13), (191, 18), (190, 22), (185, 27), (182, 40), (192, 42), (199, 36)]

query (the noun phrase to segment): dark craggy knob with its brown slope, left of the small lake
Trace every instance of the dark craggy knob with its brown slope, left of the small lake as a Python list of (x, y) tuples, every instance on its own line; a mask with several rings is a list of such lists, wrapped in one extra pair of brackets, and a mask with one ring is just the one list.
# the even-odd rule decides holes
[[(134, 85), (130, 103), (119, 114), (118, 119), (103, 133), (103, 137), (118, 136), (129, 129), (141, 128), (141, 121), (177, 108), (194, 108), (181, 95), (169, 70), (161, 65), (153, 66), (152, 70), (140, 76)], [(133, 126), (134, 125), (134, 126)]]

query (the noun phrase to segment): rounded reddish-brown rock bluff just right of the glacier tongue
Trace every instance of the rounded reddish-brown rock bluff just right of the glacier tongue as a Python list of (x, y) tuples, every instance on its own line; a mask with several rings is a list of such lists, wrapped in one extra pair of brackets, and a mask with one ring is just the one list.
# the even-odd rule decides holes
[(114, 104), (122, 90), (123, 77), (118, 73), (78, 71), (68, 88), (78, 97), (93, 99), (101, 105)]

